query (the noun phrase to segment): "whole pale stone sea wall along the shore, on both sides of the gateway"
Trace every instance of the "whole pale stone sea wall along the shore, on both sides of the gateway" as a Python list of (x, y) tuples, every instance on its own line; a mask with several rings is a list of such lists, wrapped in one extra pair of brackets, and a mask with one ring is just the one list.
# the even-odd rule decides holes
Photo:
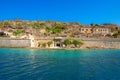
[[(79, 39), (84, 42), (84, 45), (81, 46), (82, 49), (85, 48), (114, 48), (120, 49), (120, 39)], [(34, 40), (35, 47), (38, 47), (38, 43), (47, 43), (48, 41), (53, 41), (53, 39), (36, 39)], [(18, 47), (25, 48), (31, 47), (31, 40), (15, 40), (15, 39), (0, 39), (0, 47)], [(51, 45), (54, 47), (54, 42)]]

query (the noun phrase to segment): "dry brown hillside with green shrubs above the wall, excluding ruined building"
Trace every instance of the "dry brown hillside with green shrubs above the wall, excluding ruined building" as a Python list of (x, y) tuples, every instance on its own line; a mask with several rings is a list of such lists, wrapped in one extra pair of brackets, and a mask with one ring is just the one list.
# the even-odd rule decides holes
[(79, 37), (86, 36), (80, 33), (81, 27), (110, 28), (112, 36), (120, 36), (120, 28), (115, 24), (90, 24), (82, 25), (77, 22), (57, 22), (57, 21), (23, 21), (6, 20), (0, 22), (1, 32), (8, 32), (12, 35), (34, 35), (37, 37)]

